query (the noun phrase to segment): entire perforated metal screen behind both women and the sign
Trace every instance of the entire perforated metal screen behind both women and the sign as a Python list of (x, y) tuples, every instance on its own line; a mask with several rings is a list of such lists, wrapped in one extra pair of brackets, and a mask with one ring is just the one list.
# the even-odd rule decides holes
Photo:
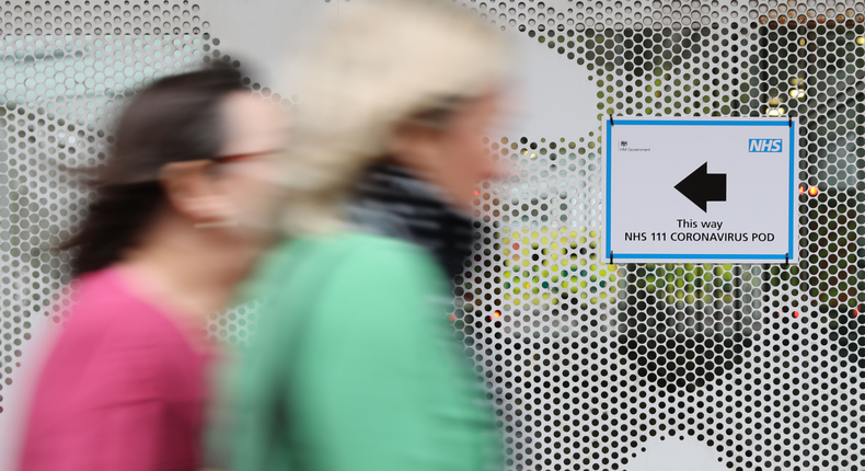
[[(136, 83), (222, 59), (196, 4), (115, 3), (0, 4), (5, 388), (33, 322), (61, 319), (51, 246), (89, 194), (58, 165), (102, 159)], [(477, 196), (452, 319), (508, 468), (630, 469), (649, 440), (690, 437), (728, 469), (863, 469), (865, 2), (461, 3), (586, 68), (585, 113), (801, 123), (798, 266), (601, 264), (598, 131), (491, 137), (514, 177)], [(243, 342), (253, 321), (238, 308), (208, 334)]]

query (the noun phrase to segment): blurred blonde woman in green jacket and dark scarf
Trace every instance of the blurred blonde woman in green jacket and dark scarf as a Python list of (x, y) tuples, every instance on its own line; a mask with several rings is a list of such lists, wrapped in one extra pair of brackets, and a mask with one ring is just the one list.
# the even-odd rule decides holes
[(450, 1), (353, 4), (295, 66), (287, 242), (239, 369), (235, 469), (481, 470), (499, 445), (449, 280), (497, 175), (499, 32)]

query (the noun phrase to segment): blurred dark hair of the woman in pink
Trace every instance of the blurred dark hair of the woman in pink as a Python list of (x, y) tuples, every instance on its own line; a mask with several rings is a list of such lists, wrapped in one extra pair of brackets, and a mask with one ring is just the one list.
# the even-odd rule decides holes
[(203, 70), (153, 82), (128, 106), (107, 163), (93, 169), (96, 191), (78, 232), (61, 249), (74, 249), (72, 275), (102, 269), (138, 243), (165, 202), (158, 181), (166, 163), (214, 159), (222, 148), (219, 105), (243, 90), (240, 70), (211, 64)]

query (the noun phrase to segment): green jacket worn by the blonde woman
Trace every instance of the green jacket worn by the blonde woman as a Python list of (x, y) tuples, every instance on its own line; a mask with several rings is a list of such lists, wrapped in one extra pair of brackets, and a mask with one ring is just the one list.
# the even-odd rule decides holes
[(266, 301), (235, 376), (235, 471), (499, 467), (492, 409), (426, 252), (354, 232), (296, 240), (253, 286)]

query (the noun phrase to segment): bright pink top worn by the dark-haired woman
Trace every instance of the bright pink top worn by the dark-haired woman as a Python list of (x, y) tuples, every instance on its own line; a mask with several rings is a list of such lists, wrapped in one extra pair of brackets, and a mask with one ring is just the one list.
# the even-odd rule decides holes
[(80, 297), (42, 372), (21, 471), (195, 470), (206, 355), (115, 269)]

